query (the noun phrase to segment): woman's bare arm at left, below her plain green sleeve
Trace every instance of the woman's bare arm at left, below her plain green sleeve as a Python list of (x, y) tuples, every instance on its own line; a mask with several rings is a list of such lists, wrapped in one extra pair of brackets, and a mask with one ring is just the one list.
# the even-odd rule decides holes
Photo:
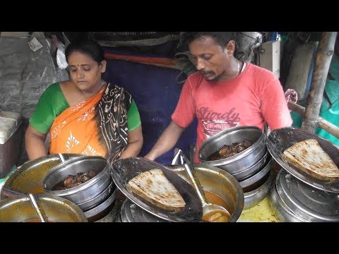
[(47, 147), (44, 143), (47, 134), (36, 131), (30, 124), (25, 133), (25, 147), (28, 159), (37, 159), (47, 155)]

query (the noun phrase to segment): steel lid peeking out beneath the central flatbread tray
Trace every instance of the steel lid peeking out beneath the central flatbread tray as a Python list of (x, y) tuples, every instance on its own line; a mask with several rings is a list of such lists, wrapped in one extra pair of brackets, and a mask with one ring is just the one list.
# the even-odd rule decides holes
[(129, 199), (126, 199), (122, 203), (120, 216), (122, 222), (168, 222), (165, 219), (160, 219), (159, 217), (146, 212)]

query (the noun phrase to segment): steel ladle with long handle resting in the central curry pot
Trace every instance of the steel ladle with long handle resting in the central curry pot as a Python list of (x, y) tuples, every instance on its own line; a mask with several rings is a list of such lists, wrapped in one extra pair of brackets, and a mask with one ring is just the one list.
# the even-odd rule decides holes
[(225, 207), (222, 207), (221, 205), (214, 205), (208, 202), (208, 200), (205, 197), (205, 193), (203, 193), (203, 188), (198, 179), (198, 176), (196, 175), (196, 171), (194, 170), (193, 165), (191, 164), (189, 159), (187, 159), (187, 157), (184, 155), (184, 152), (182, 152), (182, 150), (178, 149), (177, 155), (174, 156), (173, 162), (177, 161), (179, 156), (184, 161), (184, 167), (186, 169), (186, 172), (193, 183), (194, 189), (198, 193), (198, 197), (201, 200), (201, 204), (203, 205), (203, 217), (205, 217), (204, 215), (208, 214), (208, 217), (211, 218), (213, 217), (213, 214), (217, 214), (218, 212), (220, 212), (222, 216), (225, 215), (228, 218), (230, 218), (231, 217), (230, 212), (228, 212)]

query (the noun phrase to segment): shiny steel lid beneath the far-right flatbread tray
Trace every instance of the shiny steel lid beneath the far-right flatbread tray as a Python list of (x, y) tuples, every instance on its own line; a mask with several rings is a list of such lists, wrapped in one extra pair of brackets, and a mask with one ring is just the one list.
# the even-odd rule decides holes
[(275, 181), (285, 205), (309, 222), (339, 222), (339, 196), (303, 183), (285, 170), (280, 170)]

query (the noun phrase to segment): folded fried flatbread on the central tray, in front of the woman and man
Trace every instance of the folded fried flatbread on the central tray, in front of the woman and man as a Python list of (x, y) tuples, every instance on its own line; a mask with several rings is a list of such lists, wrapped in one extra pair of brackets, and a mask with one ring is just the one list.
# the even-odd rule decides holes
[(131, 193), (171, 212), (181, 211), (186, 202), (177, 188), (168, 181), (160, 169), (151, 169), (133, 177), (126, 184)]

